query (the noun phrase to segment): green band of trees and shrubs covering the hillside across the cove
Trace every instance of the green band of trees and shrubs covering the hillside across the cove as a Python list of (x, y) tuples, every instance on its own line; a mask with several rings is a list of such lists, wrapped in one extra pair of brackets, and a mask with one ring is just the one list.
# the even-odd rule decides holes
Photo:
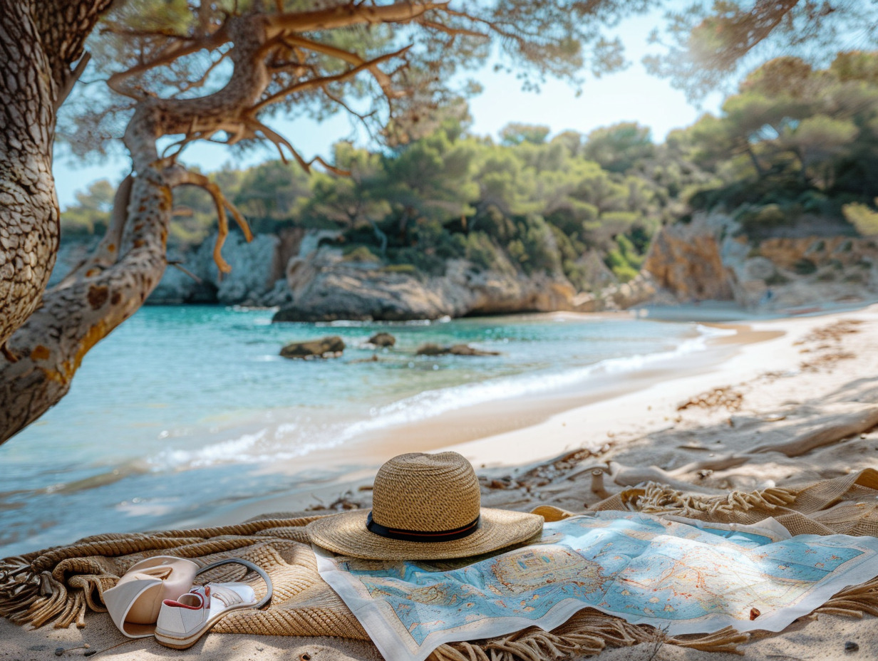
[[(578, 291), (606, 284), (586, 255), (627, 282), (660, 226), (700, 211), (722, 209), (753, 241), (815, 218), (833, 234), (878, 234), (878, 54), (839, 54), (826, 68), (769, 61), (717, 116), (658, 144), (634, 122), (555, 136), (511, 124), (493, 140), (472, 134), (458, 107), (404, 145), (339, 142), (332, 164), (350, 174), (271, 161), (208, 178), (255, 232), (336, 230), (349, 262), (441, 275), (448, 260), (465, 259), (563, 274)], [(62, 234), (102, 233), (111, 205), (112, 185), (91, 184), (63, 214)], [(175, 205), (171, 246), (215, 238), (204, 190), (179, 189)]]

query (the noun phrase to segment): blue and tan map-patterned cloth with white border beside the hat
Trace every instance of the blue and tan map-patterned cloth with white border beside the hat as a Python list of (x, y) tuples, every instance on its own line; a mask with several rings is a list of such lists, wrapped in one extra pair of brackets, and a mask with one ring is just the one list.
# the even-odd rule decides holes
[[(584, 607), (666, 634), (780, 631), (878, 577), (878, 538), (602, 511), (546, 523), (539, 542), (454, 563), (315, 549), (320, 576), (388, 661), (442, 643), (554, 629)], [(457, 566), (455, 566), (457, 565)]]

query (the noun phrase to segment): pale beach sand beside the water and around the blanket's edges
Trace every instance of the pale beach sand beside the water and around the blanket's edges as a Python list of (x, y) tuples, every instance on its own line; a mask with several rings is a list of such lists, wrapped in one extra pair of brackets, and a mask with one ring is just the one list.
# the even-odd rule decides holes
[[(655, 364), (637, 377), (598, 379), (598, 388), (562, 398), (507, 402), (463, 412), (453, 419), (399, 427), (392, 435), (345, 449), (343, 466), (326, 457), (289, 466), (296, 487), (283, 496), (238, 503), (203, 521), (222, 524), (257, 514), (306, 508), (368, 506), (371, 478), (389, 456), (413, 450), (451, 449), (479, 470), (483, 501), (529, 510), (550, 504), (578, 511), (599, 498), (592, 470), (604, 485), (659, 480), (681, 488), (718, 492), (833, 478), (878, 468), (878, 432), (847, 427), (817, 438), (817, 429), (840, 427), (878, 414), (878, 305), (859, 311), (780, 320), (748, 321), (733, 339), (679, 364)], [(862, 427), (862, 425), (860, 425)], [(791, 443), (792, 442), (792, 443)], [(576, 450), (575, 455), (571, 454)], [(758, 450), (758, 451), (757, 451)], [(558, 461), (560, 457), (565, 459)], [(317, 471), (318, 467), (322, 470)], [(152, 640), (125, 642), (105, 614), (90, 614), (85, 629), (29, 631), (0, 621), (0, 661), (48, 661), (56, 648), (88, 644), (97, 657), (134, 661), (203, 657), (255, 659), (380, 659), (368, 643), (329, 638), (205, 636), (184, 652)], [(859, 650), (845, 651), (845, 644)], [(89, 650), (89, 651), (90, 651)], [(85, 649), (64, 651), (79, 657)], [(878, 620), (831, 615), (802, 618), (779, 634), (752, 636), (746, 658), (833, 659), (878, 657)], [(307, 657), (305, 656), (307, 655)], [(658, 643), (605, 650), (601, 659), (738, 658)]]

